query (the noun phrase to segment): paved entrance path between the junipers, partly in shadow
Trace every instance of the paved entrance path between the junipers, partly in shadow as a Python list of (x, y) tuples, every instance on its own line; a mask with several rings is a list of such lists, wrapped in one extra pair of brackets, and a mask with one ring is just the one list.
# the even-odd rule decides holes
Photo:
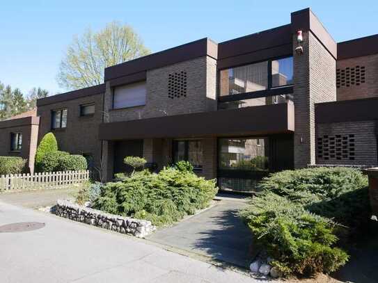
[(258, 250), (252, 245), (250, 230), (237, 216), (246, 201), (233, 195), (217, 199), (214, 207), (173, 227), (160, 229), (148, 236), (148, 240), (248, 268)]

